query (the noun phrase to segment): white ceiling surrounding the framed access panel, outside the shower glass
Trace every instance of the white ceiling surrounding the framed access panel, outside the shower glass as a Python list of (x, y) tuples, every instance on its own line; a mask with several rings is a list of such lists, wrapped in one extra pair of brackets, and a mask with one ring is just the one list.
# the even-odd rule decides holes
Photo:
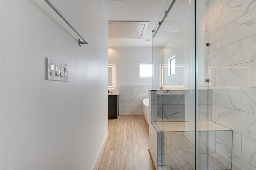
[(109, 21), (149, 22), (142, 38), (108, 38), (111, 47), (151, 47), (152, 30), (158, 24), (166, 2), (167, 0), (105, 0)]

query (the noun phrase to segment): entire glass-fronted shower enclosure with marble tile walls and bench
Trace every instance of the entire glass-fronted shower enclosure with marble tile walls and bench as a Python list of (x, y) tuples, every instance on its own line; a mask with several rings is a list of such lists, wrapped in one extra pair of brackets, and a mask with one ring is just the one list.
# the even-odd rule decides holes
[(256, 1), (168, 0), (152, 31), (156, 168), (256, 170)]

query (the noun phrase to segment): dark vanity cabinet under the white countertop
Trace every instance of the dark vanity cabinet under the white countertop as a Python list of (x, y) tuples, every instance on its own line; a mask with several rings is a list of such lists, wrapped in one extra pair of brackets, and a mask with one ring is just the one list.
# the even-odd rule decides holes
[(118, 116), (118, 95), (108, 95), (108, 119)]

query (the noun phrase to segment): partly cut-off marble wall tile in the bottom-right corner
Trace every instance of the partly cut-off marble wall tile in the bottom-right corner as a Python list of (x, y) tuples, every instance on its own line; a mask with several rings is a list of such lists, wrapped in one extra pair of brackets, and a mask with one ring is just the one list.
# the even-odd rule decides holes
[(256, 170), (256, 168), (248, 164), (235, 154), (232, 154), (232, 170)]

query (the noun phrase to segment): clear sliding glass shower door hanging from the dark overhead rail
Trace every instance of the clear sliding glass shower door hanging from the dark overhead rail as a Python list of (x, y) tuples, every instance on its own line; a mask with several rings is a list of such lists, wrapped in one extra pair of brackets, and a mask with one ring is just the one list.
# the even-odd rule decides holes
[(189, 0), (167, 1), (152, 32), (149, 150), (159, 168), (196, 168), (194, 5)]

